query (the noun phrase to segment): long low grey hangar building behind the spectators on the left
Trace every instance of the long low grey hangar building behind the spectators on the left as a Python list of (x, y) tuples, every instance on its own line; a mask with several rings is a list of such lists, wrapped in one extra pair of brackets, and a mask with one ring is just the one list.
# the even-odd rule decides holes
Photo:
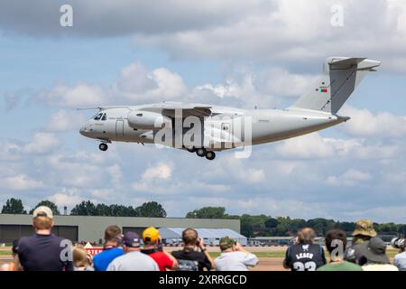
[[(72, 241), (89, 241), (101, 244), (107, 226), (117, 225), (124, 232), (138, 234), (144, 228), (225, 228), (240, 232), (239, 219), (183, 219), (183, 218), (133, 218), (98, 216), (55, 216), (52, 233)], [(32, 215), (0, 214), (0, 243), (11, 243), (14, 239), (33, 234)], [(220, 236), (223, 237), (223, 236)]]

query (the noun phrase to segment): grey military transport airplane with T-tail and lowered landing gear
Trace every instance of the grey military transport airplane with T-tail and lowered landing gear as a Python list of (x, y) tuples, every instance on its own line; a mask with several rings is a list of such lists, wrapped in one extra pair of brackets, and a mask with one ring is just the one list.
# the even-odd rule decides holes
[(100, 141), (101, 151), (112, 142), (163, 144), (212, 161), (216, 152), (307, 135), (348, 121), (350, 117), (337, 112), (366, 73), (380, 65), (366, 58), (330, 57), (314, 86), (285, 109), (180, 102), (93, 107), (99, 109), (97, 115), (79, 132)]

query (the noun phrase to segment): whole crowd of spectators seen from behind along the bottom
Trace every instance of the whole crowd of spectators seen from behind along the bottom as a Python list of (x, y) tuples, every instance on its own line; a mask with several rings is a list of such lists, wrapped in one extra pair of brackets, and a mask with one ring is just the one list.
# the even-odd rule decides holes
[[(182, 232), (181, 250), (167, 252), (157, 228), (146, 228), (142, 236), (109, 226), (105, 230), (103, 250), (90, 256), (82, 244), (72, 243), (51, 234), (52, 211), (39, 207), (33, 211), (35, 234), (15, 240), (13, 262), (0, 267), (2, 271), (247, 271), (258, 264), (258, 258), (245, 250), (235, 239), (220, 238), (220, 256), (213, 259), (198, 231)], [(283, 266), (292, 271), (406, 271), (403, 244), (393, 259), (386, 254), (386, 244), (376, 236), (371, 220), (356, 222), (352, 244), (346, 232), (333, 229), (326, 234), (326, 249), (315, 242), (312, 228), (302, 228), (294, 244), (286, 251)]]

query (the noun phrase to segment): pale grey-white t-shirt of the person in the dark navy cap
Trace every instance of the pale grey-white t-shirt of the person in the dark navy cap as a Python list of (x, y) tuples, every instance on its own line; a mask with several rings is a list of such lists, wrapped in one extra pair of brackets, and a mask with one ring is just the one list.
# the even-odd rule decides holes
[(107, 266), (107, 271), (160, 271), (160, 268), (151, 256), (130, 252), (116, 257)]

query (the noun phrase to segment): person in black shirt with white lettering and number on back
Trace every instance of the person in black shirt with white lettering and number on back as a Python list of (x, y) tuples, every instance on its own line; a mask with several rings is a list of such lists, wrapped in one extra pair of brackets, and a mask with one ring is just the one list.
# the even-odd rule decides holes
[(298, 233), (297, 243), (286, 251), (283, 266), (292, 271), (316, 271), (326, 264), (323, 247), (314, 244), (316, 233), (312, 228), (302, 228)]

